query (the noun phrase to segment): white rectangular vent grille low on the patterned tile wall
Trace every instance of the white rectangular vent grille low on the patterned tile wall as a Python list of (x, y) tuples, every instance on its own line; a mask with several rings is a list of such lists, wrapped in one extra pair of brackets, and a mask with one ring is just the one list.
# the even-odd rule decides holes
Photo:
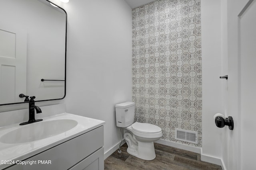
[(175, 139), (180, 140), (180, 141), (189, 142), (189, 143), (198, 144), (196, 131), (188, 131), (188, 130), (176, 128), (175, 129)]

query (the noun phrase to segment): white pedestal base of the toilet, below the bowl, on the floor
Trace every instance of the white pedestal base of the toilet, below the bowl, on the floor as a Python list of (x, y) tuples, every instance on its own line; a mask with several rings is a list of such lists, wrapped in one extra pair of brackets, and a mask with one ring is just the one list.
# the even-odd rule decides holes
[(154, 142), (138, 141), (138, 150), (131, 149), (128, 145), (127, 152), (143, 160), (153, 160), (156, 158)]

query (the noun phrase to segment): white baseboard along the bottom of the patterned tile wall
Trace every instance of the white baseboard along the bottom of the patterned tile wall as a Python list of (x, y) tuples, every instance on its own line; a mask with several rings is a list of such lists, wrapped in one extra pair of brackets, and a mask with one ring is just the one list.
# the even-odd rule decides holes
[(166, 145), (166, 146), (174, 147), (174, 148), (178, 148), (178, 149), (188, 150), (188, 151), (195, 152), (195, 153), (201, 153), (201, 150), (202, 150), (201, 148), (192, 147), (192, 146), (188, 146), (188, 145), (184, 145), (184, 144), (180, 144), (180, 143), (175, 143), (172, 141), (166, 141), (164, 139), (159, 139), (155, 143), (160, 143), (162, 145)]

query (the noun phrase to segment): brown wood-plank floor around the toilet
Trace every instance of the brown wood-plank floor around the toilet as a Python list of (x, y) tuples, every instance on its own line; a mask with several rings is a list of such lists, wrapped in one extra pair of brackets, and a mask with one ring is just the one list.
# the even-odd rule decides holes
[(221, 166), (201, 161), (200, 154), (154, 143), (156, 158), (142, 160), (126, 152), (126, 143), (104, 160), (105, 170), (222, 170)]

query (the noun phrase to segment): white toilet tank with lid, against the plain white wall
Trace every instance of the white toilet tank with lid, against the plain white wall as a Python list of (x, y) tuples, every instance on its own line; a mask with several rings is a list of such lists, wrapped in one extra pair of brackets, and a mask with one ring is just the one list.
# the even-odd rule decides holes
[(135, 103), (125, 102), (116, 105), (116, 126), (128, 127), (134, 122)]

